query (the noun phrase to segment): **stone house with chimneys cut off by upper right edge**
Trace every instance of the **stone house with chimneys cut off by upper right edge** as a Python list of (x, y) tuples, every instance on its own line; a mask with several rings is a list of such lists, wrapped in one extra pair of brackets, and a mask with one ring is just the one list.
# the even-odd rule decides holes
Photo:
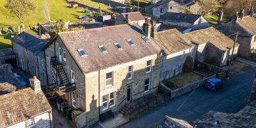
[(220, 30), (221, 33), (236, 40), (240, 44), (238, 49), (238, 56), (243, 58), (250, 58), (252, 51), (256, 50), (256, 15), (252, 14), (244, 16), (244, 13), (237, 13), (234, 19), (223, 26), (216, 29)]

